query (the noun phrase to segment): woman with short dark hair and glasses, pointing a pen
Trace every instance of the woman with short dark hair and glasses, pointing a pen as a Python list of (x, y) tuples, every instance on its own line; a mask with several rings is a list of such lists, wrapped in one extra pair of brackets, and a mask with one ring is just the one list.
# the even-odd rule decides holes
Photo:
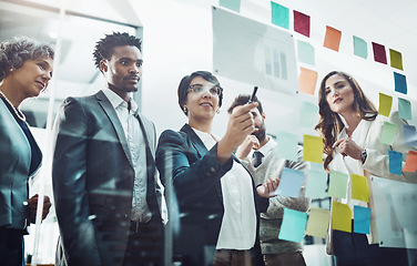
[[(212, 133), (223, 100), (217, 79), (196, 71), (182, 79), (177, 95), (189, 122), (179, 132), (164, 131), (156, 150), (156, 167), (165, 185), (172, 178), (179, 207), (174, 260), (183, 265), (260, 265), (257, 214), (266, 211), (268, 194), (278, 182), (268, 181), (255, 192), (250, 173), (233, 155), (255, 131), (250, 110), (257, 103), (236, 108), (220, 139)], [(175, 223), (175, 216), (170, 219)]]

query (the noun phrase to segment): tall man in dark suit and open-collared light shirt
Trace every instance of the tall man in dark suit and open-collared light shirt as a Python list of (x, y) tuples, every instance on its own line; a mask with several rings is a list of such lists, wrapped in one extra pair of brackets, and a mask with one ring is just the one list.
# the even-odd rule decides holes
[(106, 34), (93, 55), (106, 88), (64, 100), (55, 124), (52, 180), (64, 259), (161, 265), (155, 127), (132, 99), (142, 75), (141, 40)]

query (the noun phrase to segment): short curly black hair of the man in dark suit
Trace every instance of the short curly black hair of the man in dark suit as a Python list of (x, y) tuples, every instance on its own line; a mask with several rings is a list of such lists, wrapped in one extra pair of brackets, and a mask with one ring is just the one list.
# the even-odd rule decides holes
[(113, 32), (113, 34), (105, 34), (103, 39), (100, 39), (100, 41), (96, 42), (94, 48), (93, 55), (95, 66), (100, 70), (101, 60), (110, 60), (113, 55), (114, 48), (124, 45), (136, 47), (139, 51), (142, 51), (142, 41), (134, 35), (129, 35), (126, 32)]

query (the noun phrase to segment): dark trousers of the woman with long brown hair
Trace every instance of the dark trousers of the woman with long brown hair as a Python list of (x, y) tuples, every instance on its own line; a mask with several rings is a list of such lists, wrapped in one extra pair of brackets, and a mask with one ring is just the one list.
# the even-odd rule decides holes
[(407, 249), (368, 244), (364, 234), (333, 232), (337, 266), (408, 266)]

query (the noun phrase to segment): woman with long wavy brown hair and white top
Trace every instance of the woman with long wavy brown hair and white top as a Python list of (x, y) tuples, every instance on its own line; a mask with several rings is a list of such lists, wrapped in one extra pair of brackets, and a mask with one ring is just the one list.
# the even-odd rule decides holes
[[(330, 231), (327, 253), (336, 256), (338, 266), (408, 265), (406, 249), (383, 248), (378, 245), (370, 183), (370, 175), (404, 182), (416, 180), (415, 173), (403, 172), (397, 175), (389, 171), (388, 150), (401, 152), (404, 162), (409, 150), (417, 151), (417, 147), (409, 147), (404, 143), (403, 125), (407, 122), (399, 119), (398, 112), (394, 112), (389, 117), (378, 115), (358, 82), (340, 71), (333, 71), (323, 79), (318, 94), (321, 119), (315, 129), (324, 139), (324, 167), (328, 172), (338, 171), (349, 176), (346, 198), (333, 201), (348, 204), (352, 209), (355, 205), (372, 209), (368, 237), (365, 234)], [(385, 121), (398, 125), (391, 145), (382, 143)], [(350, 174), (367, 177), (369, 203), (350, 197)]]

